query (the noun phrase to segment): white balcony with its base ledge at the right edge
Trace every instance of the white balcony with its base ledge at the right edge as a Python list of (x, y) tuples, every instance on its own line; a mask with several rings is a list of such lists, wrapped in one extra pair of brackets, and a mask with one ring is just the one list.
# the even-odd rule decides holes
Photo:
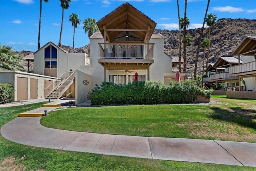
[(230, 67), (230, 75), (246, 76), (256, 74), (256, 61)]

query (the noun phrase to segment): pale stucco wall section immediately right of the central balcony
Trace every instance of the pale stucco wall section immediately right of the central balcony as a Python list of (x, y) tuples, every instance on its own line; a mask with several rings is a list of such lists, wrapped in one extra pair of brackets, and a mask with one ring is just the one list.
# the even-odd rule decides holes
[(150, 39), (150, 43), (154, 43), (154, 64), (149, 68), (150, 81), (164, 83), (164, 38)]

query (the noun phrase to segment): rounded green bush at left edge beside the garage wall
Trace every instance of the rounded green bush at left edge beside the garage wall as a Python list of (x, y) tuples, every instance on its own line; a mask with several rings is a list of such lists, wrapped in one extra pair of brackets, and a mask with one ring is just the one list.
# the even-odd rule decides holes
[(12, 84), (0, 84), (0, 104), (11, 103), (14, 98), (14, 87)]

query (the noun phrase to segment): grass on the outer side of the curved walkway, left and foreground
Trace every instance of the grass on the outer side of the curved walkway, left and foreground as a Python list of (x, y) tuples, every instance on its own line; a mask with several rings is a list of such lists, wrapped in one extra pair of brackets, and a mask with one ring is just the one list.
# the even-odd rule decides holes
[[(0, 127), (18, 116), (18, 113), (38, 108), (43, 103), (17, 107), (0, 108)], [(63, 110), (65, 111), (65, 110)], [(52, 112), (51, 115), (54, 115)], [(50, 116), (50, 115), (49, 115)], [(70, 118), (69, 118), (70, 119)], [(21, 159), (26, 155), (25, 159)], [(14, 159), (14, 157), (16, 159)], [(197, 171), (233, 171), (255, 170), (255, 167), (215, 165), (206, 163), (189, 163), (161, 161), (132, 157), (108, 156), (92, 153), (79, 153), (55, 149), (30, 147), (13, 143), (0, 136), (0, 170), (197, 170)]]

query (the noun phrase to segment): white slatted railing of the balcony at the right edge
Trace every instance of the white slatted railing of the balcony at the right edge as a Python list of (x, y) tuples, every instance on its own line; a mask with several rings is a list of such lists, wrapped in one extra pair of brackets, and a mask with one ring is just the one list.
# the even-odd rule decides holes
[(232, 66), (229, 68), (230, 74), (238, 74), (252, 71), (256, 71), (256, 61), (248, 62), (237, 66)]

